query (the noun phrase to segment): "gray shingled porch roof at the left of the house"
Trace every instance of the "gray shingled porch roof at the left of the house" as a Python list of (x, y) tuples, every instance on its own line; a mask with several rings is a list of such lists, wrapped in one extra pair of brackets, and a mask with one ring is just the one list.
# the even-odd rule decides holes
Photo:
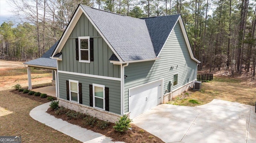
[(28, 61), (24, 63), (25, 65), (35, 65), (35, 66), (43, 66), (43, 67), (54, 67), (57, 68), (57, 61), (56, 59), (50, 59), (50, 56), (52, 56), (52, 53), (56, 49), (56, 46), (58, 45), (59, 41), (57, 41), (52, 47), (42, 55), (42, 57), (38, 59), (34, 59), (31, 61)]

